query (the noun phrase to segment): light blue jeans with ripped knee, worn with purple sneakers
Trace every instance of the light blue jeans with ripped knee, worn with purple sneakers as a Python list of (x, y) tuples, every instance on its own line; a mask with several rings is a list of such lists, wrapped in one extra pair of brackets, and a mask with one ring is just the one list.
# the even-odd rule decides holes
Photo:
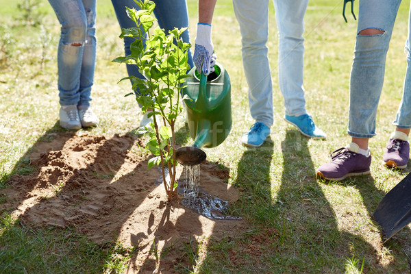
[[(375, 136), (375, 117), (384, 82), (386, 53), (401, 0), (360, 0), (358, 31), (379, 29), (383, 34), (357, 35), (351, 68), (348, 134), (356, 138)], [(411, 18), (411, 10), (410, 10)], [(406, 41), (407, 71), (402, 100), (394, 125), (411, 128), (410, 18)]]

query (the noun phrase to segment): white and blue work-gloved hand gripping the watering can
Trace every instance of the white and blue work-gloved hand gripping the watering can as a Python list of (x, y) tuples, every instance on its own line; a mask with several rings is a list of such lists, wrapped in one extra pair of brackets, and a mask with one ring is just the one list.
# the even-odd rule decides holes
[(211, 25), (198, 23), (192, 61), (199, 73), (203, 71), (204, 75), (209, 75), (214, 71), (217, 55), (214, 54), (213, 51), (214, 45), (212, 45), (211, 40)]

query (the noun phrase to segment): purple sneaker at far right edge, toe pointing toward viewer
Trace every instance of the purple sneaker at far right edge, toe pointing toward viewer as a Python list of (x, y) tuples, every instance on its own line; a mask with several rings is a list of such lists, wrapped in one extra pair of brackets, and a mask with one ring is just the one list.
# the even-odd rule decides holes
[(387, 151), (382, 159), (386, 166), (405, 169), (410, 158), (410, 143), (401, 139), (390, 138)]

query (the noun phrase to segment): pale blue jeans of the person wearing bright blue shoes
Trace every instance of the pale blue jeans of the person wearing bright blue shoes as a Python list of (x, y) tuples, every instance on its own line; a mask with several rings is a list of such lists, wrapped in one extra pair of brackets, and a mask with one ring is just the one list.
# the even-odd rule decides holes
[[(303, 89), (304, 15), (308, 0), (273, 0), (279, 36), (278, 79), (290, 116), (306, 114)], [(249, 86), (251, 116), (273, 125), (273, 84), (266, 42), (269, 0), (233, 0), (242, 36), (242, 63)]]

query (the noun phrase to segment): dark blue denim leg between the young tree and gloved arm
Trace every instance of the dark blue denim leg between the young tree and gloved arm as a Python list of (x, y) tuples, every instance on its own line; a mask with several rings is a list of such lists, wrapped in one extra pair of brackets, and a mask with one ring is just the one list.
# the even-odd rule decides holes
[[(166, 35), (169, 31), (177, 27), (182, 29), (188, 27), (188, 10), (186, 0), (153, 0), (155, 3), (154, 15), (158, 20), (158, 25), (165, 30)], [(190, 33), (188, 29), (182, 34), (182, 39), (190, 43)], [(194, 67), (192, 55), (188, 49), (188, 64)]]

